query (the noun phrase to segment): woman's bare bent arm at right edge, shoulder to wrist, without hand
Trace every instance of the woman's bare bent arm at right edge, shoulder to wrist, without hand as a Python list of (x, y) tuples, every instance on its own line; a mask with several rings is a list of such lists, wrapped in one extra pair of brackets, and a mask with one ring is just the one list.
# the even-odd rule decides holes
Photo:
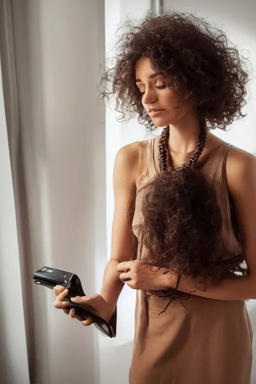
[[(226, 179), (234, 200), (248, 275), (225, 278), (219, 285), (212, 285), (208, 280), (204, 291), (195, 290), (190, 276), (185, 276), (180, 278), (178, 290), (193, 291), (191, 293), (196, 296), (218, 300), (256, 299), (256, 157), (230, 147), (226, 158)], [(175, 277), (169, 276), (173, 280), (171, 287), (175, 286)]]

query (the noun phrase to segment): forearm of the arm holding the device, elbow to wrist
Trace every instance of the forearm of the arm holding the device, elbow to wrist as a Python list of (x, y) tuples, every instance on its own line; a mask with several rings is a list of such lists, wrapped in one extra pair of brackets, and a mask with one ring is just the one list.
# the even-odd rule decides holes
[(119, 294), (122, 290), (124, 283), (119, 279), (119, 272), (117, 272), (117, 265), (119, 260), (110, 258), (105, 266), (102, 288), (100, 291), (101, 296), (114, 310)]

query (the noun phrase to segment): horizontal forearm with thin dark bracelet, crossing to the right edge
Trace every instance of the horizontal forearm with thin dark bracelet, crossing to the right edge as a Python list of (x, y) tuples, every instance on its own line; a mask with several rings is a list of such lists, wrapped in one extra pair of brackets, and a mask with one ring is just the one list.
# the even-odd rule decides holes
[[(173, 277), (172, 277), (173, 278)], [(176, 280), (175, 280), (176, 281)], [(175, 286), (173, 279), (171, 286)], [(256, 298), (256, 278), (254, 276), (227, 277), (218, 285), (213, 285), (210, 280), (205, 282), (205, 290), (196, 289), (190, 276), (181, 277), (178, 290), (196, 296), (213, 298), (217, 300), (245, 300)]]

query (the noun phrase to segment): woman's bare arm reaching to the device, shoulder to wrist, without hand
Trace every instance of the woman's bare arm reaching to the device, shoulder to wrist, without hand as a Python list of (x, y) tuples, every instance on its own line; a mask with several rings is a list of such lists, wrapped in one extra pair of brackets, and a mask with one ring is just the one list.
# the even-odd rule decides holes
[[(116, 154), (113, 170), (114, 214), (111, 235), (111, 256), (106, 264), (100, 295), (114, 311), (118, 296), (123, 287), (119, 279), (117, 265), (130, 260), (134, 255), (132, 233), (128, 225), (128, 206), (134, 211), (136, 177), (138, 170), (138, 142), (120, 148)], [(131, 217), (132, 219), (132, 213)]]

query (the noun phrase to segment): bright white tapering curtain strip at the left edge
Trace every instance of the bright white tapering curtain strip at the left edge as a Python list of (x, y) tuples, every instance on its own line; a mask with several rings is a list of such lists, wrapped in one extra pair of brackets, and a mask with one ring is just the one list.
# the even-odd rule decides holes
[(29, 382), (13, 184), (0, 68), (0, 382)]

